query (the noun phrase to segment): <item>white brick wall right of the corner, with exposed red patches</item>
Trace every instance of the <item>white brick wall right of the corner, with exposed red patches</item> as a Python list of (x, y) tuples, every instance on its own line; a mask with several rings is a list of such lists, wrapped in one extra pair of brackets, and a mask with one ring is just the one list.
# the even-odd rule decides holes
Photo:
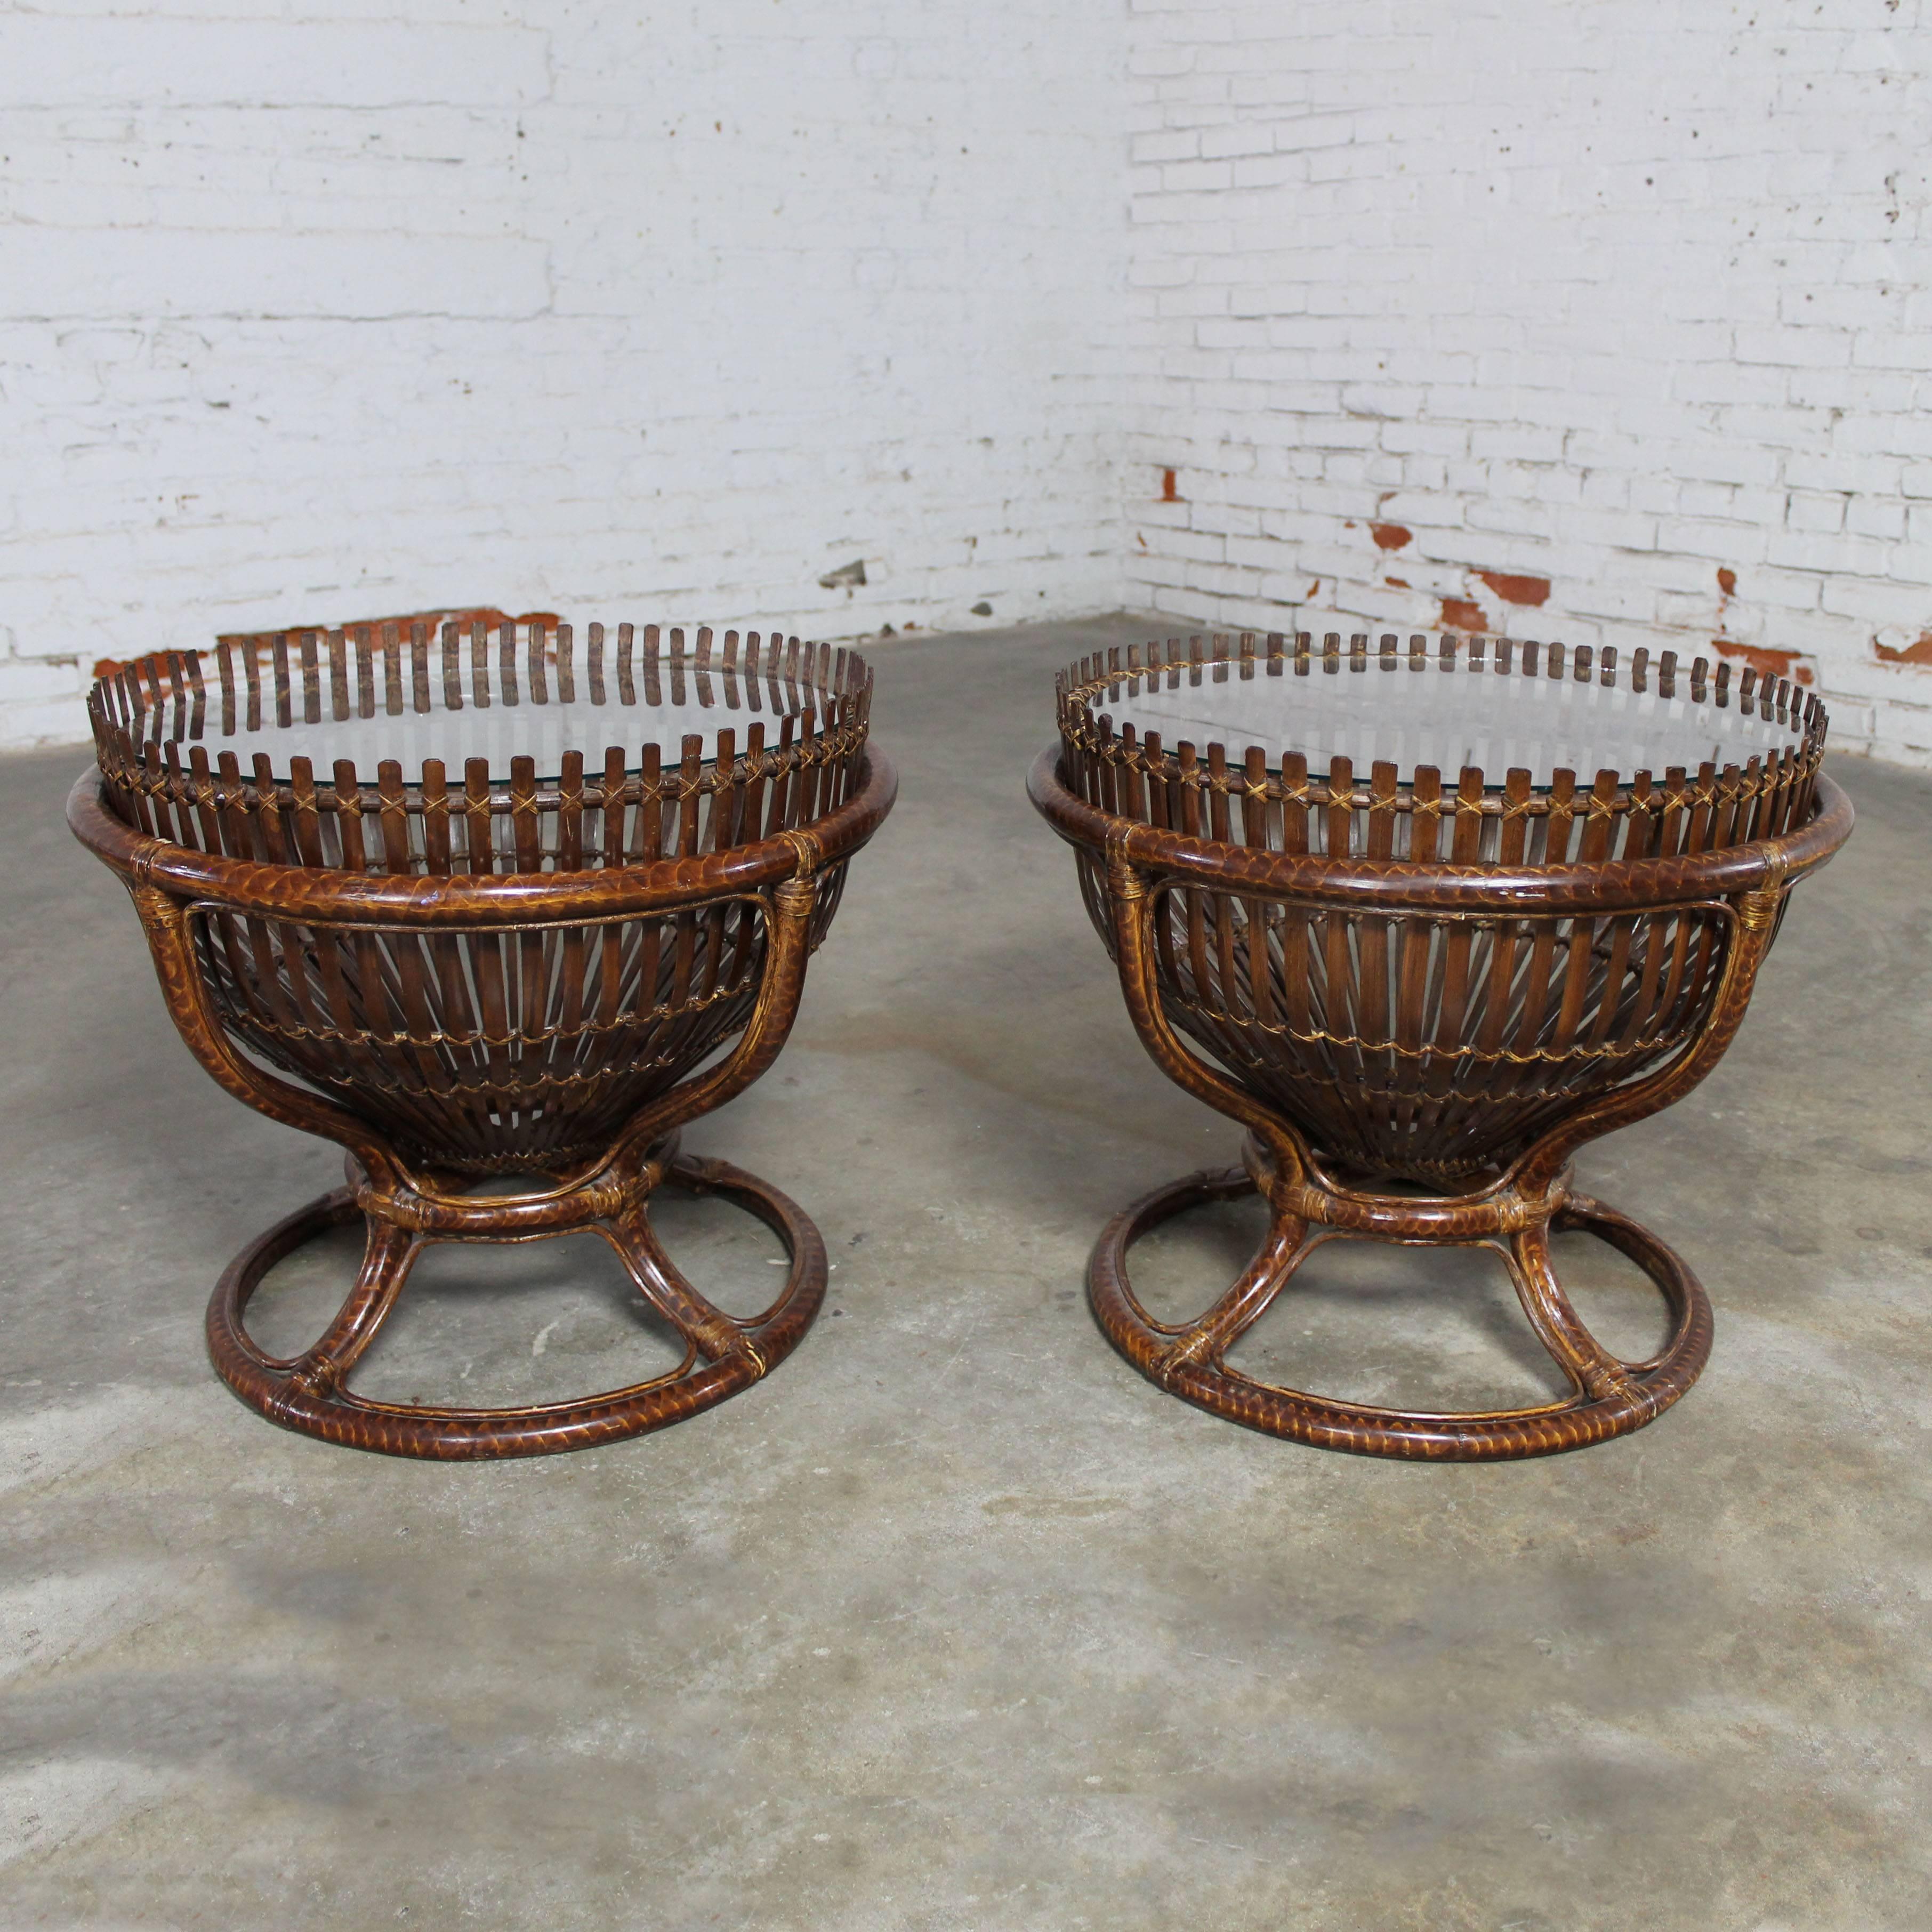
[(1132, 601), (1716, 641), (1932, 763), (1922, 0), (1132, 0), (1128, 66)]

